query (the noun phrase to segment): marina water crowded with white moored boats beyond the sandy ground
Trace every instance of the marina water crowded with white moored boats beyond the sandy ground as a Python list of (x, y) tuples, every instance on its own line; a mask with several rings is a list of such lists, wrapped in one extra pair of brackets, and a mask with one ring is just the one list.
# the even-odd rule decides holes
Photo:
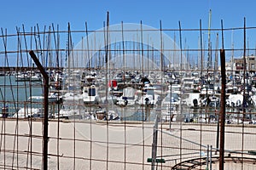
[[(59, 73), (58, 73), (59, 74)], [(79, 117), (82, 119), (83, 117), (91, 117), (88, 116), (88, 112), (92, 115), (96, 115), (96, 112), (105, 113), (105, 117), (108, 115), (108, 111), (113, 112), (114, 115), (118, 115), (119, 121), (122, 120), (122, 117), (125, 114), (130, 115), (129, 120), (133, 120), (131, 115), (134, 115), (134, 121), (138, 120), (139, 112), (147, 112), (148, 114), (153, 114), (154, 121), (155, 111), (158, 108), (161, 108), (162, 121), (170, 121), (170, 117), (172, 120), (178, 120), (178, 122), (189, 122), (191, 120), (195, 120), (195, 122), (200, 122), (198, 117), (200, 117), (201, 113), (205, 113), (207, 116), (204, 117), (204, 122), (215, 122), (217, 123), (218, 119), (218, 110), (220, 107), (220, 87), (217, 85), (212, 88), (212, 91), (207, 90), (206, 88), (199, 89), (196, 85), (197, 82), (193, 81), (191, 85), (191, 89), (182, 88), (187, 87), (187, 83), (161, 83), (162, 88), (159, 92), (156, 92), (156, 88), (160, 84), (154, 83), (143, 83), (141, 80), (138, 83), (125, 83), (117, 82), (117, 80), (113, 79), (115, 83), (115, 88), (112, 88), (107, 84), (104, 86), (104, 81), (98, 78), (93, 78), (93, 82), (84, 82), (81, 78), (84, 72), (76, 73), (75, 79), (72, 77), (72, 83), (67, 84), (67, 82), (58, 82), (60, 84), (64, 84), (63, 88), (59, 89), (55, 87), (56, 82), (51, 82), (49, 87), (49, 110), (55, 107), (54, 112), (50, 115), (51, 118), (59, 118), (57, 116), (62, 112), (63, 105), (76, 106), (81, 105), (83, 107), (83, 111), (79, 111)], [(95, 71), (96, 74), (96, 71)], [(63, 77), (59, 77), (60, 80), (65, 80), (65, 73), (61, 73)], [(97, 75), (97, 74), (96, 74)], [(135, 73), (132, 75), (136, 75)], [(177, 73), (172, 73), (172, 75), (176, 75)], [(66, 75), (67, 76), (67, 75)], [(151, 77), (155, 77), (154, 75), (150, 75)], [(52, 77), (55, 77), (53, 75)], [(67, 76), (68, 77), (68, 76)], [(102, 77), (102, 75), (99, 75)], [(139, 77), (139, 75), (136, 75)], [(196, 77), (192, 77), (190, 75), (191, 80), (196, 80)], [(81, 78), (81, 79), (80, 79)], [(127, 77), (126, 77), (127, 78)], [(132, 77), (128, 77), (132, 79)], [(167, 77), (172, 82), (182, 82), (181, 79), (172, 79)], [(38, 111), (34, 109), (40, 109), (41, 114), (44, 113), (44, 95), (43, 95), (43, 84), (42, 81), (31, 81), (30, 78), (23, 81), (16, 81), (15, 75), (5, 75), (0, 77), (0, 81), (5, 81), (5, 87), (10, 87), (9, 89), (1, 90), (2, 98), (4, 99), (5, 105), (8, 107), (8, 118), (15, 116), (20, 110), (24, 110), (24, 108), (32, 108), (30, 111)], [(91, 79), (91, 78), (90, 78)], [(149, 78), (150, 79), (150, 78)], [(148, 80), (149, 80), (148, 79)], [(253, 79), (253, 77), (248, 77), (248, 79)], [(154, 81), (154, 80), (150, 80)], [(73, 86), (73, 82), (80, 86)], [(103, 83), (102, 83), (103, 82)], [(88, 85), (92, 84), (93, 85)], [(214, 82), (211, 82), (214, 84)], [(216, 83), (216, 82), (215, 82)], [(120, 85), (119, 85), (120, 84)], [(131, 84), (131, 86), (129, 86)], [(194, 85), (195, 84), (195, 85)], [(241, 88), (241, 80), (236, 80), (236, 84), (234, 84), (237, 89)], [(202, 85), (207, 86), (207, 85)], [(241, 114), (242, 109), (246, 110), (246, 120), (248, 123), (254, 123), (256, 117), (254, 116), (255, 112), (255, 93), (256, 90), (253, 88), (255, 85), (253, 83), (248, 84), (247, 87), (252, 87), (250, 90), (248, 89), (246, 92), (246, 100), (243, 100), (243, 94), (239, 94), (238, 91), (233, 93), (228, 93), (230, 88), (227, 88), (226, 95), (226, 121), (229, 123), (238, 123), (242, 122), (242, 116), (240, 120), (236, 120), (238, 115)], [(102, 88), (104, 87), (104, 88)], [(106, 87), (108, 91), (108, 99), (106, 98)], [(194, 88), (195, 87), (195, 88)], [(72, 89), (68, 89), (72, 88)], [(3, 89), (3, 88), (1, 88)], [(208, 89), (208, 88), (207, 88)], [(18, 92), (18, 94), (16, 93)], [(3, 95), (5, 94), (5, 95)], [(13, 95), (7, 95), (13, 94)], [(172, 97), (171, 97), (172, 96)], [(245, 102), (245, 103), (243, 103)], [(245, 105), (246, 107), (243, 107)], [(4, 108), (4, 107), (3, 107)], [(58, 110), (59, 111), (58, 111)], [(6, 112), (6, 110), (3, 109)], [(21, 111), (25, 114), (24, 111)], [(5, 114), (5, 113), (2, 113)], [(62, 114), (62, 113), (61, 113)], [(30, 113), (29, 115), (33, 115)], [(72, 113), (71, 113), (72, 115)], [(142, 116), (142, 115), (141, 115)], [(7, 118), (6, 117), (6, 118)], [(28, 117), (24, 115), (23, 117)], [(43, 117), (43, 116), (39, 116)], [(104, 116), (101, 116), (104, 117)], [(212, 119), (214, 118), (214, 121)], [(143, 117), (139, 118), (139, 120), (143, 120)], [(211, 120), (211, 121), (210, 121)]]

